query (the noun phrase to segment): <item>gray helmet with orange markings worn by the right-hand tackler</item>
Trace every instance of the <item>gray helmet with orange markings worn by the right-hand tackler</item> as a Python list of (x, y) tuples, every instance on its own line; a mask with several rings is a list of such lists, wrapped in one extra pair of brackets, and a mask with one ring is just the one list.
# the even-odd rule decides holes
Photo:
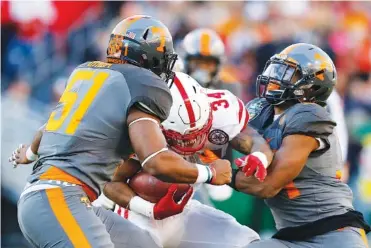
[(299, 43), (266, 63), (256, 81), (256, 94), (272, 105), (289, 101), (325, 105), (335, 83), (336, 70), (328, 55), (314, 45)]

